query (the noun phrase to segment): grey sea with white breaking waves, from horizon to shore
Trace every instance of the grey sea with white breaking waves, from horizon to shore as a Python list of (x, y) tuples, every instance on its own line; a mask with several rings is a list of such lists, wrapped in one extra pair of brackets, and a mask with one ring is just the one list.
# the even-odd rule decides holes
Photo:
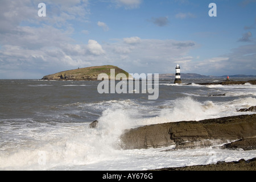
[[(256, 150), (220, 144), (121, 147), (123, 131), (139, 126), (255, 114), (237, 110), (256, 105), (256, 85), (199, 85), (220, 78), (182, 81), (159, 80), (159, 97), (148, 100), (150, 93), (142, 90), (100, 94), (101, 81), (0, 80), (0, 170), (142, 171), (255, 158)], [(95, 120), (98, 127), (90, 129)]]

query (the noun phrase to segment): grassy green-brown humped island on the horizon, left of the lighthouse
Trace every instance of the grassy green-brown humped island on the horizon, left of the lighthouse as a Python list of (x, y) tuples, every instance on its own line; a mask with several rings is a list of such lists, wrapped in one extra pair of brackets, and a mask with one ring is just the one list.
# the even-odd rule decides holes
[(118, 73), (124, 73), (127, 78), (130, 76), (129, 73), (121, 68), (115, 67), (113, 65), (102, 65), (97, 67), (78, 68), (54, 73), (52, 75), (44, 76), (42, 80), (97, 80), (98, 75), (101, 73), (106, 73), (110, 78), (110, 69), (115, 69), (114, 76), (116, 76)]

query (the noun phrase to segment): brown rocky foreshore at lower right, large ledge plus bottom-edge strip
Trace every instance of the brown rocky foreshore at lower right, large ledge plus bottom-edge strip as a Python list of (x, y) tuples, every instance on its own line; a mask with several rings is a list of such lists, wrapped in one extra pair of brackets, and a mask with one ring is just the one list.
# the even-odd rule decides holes
[[(142, 126), (127, 130), (121, 139), (125, 149), (175, 145), (173, 150), (208, 146), (230, 150), (256, 150), (256, 114)], [(226, 144), (221, 146), (223, 143)], [(155, 170), (256, 171), (256, 158)]]

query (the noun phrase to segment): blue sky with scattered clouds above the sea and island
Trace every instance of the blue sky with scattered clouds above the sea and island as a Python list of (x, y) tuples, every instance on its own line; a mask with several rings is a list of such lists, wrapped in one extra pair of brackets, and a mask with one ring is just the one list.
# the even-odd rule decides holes
[(96, 65), (256, 75), (255, 63), (256, 0), (0, 1), (0, 79)]

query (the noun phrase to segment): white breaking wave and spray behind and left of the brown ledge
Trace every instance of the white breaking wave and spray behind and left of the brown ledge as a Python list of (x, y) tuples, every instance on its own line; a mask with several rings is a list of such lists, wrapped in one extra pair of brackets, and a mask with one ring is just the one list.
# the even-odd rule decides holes
[[(79, 104), (84, 105), (84, 104)], [(115, 158), (122, 159), (119, 136), (126, 129), (141, 125), (177, 121), (199, 121), (236, 113), (237, 107), (256, 105), (256, 98), (238, 98), (229, 102), (199, 102), (192, 97), (178, 98), (159, 105), (141, 106), (136, 101), (113, 101), (98, 118), (98, 128), (89, 123), (45, 123), (24, 133), (20, 146), (5, 144), (0, 150), (0, 169), (55, 169), (86, 166)], [(98, 104), (96, 105), (98, 107)], [(144, 117), (143, 110), (156, 108), (156, 116)], [(159, 109), (160, 108), (160, 109)], [(230, 110), (230, 111), (229, 111)], [(229, 112), (227, 112), (229, 111)], [(22, 124), (20, 124), (22, 125)], [(19, 133), (16, 131), (17, 134)], [(32, 134), (32, 135), (31, 135)], [(26, 136), (27, 135), (27, 136)]]

